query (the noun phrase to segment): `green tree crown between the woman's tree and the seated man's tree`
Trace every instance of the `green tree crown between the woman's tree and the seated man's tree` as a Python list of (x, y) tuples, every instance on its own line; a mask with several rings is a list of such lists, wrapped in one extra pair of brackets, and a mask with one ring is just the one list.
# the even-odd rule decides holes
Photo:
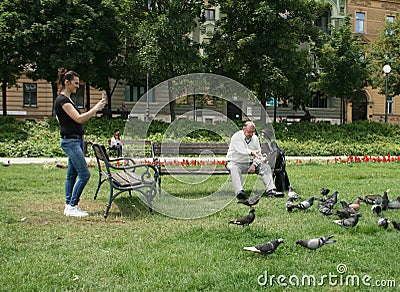
[[(202, 20), (201, 0), (127, 1), (135, 12), (126, 19), (126, 79), (150, 86), (175, 76), (201, 71), (199, 44), (191, 38), (196, 21)], [(175, 101), (170, 102), (175, 119)]]

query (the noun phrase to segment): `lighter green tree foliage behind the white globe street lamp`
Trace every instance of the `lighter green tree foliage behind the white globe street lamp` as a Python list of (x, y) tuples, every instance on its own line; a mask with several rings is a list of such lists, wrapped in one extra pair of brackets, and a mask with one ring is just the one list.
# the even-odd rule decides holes
[(389, 95), (400, 94), (400, 19), (397, 16), (393, 23), (386, 22), (385, 27), (379, 32), (378, 39), (370, 44), (368, 58), (371, 59), (370, 71), (372, 86), (380, 88), (380, 93), (385, 93), (384, 65), (391, 66), (388, 75)]

